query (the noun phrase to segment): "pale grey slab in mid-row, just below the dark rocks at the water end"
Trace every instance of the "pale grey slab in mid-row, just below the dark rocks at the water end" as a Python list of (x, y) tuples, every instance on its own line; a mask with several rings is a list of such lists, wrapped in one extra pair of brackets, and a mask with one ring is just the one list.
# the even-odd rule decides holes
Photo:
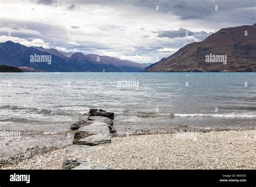
[(81, 127), (79, 132), (84, 132), (84, 134), (110, 134), (109, 125), (103, 122), (95, 122), (91, 125)]

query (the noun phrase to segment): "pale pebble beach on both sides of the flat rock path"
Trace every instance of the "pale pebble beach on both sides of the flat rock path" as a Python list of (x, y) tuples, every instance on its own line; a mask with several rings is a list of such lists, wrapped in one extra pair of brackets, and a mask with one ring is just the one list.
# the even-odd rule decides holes
[[(255, 129), (196, 132), (192, 136), (114, 135), (111, 143), (93, 146), (89, 158), (106, 163), (108, 169), (256, 169), (255, 137)], [(53, 148), (0, 169), (63, 169), (64, 159), (65, 148)]]

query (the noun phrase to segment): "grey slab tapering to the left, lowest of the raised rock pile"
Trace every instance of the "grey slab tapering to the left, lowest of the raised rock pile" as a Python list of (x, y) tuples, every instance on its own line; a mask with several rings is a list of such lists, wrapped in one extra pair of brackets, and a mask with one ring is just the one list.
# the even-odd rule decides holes
[(95, 146), (100, 143), (109, 143), (109, 142), (111, 142), (110, 134), (93, 134), (93, 135), (87, 136), (86, 138), (78, 140), (77, 144)]

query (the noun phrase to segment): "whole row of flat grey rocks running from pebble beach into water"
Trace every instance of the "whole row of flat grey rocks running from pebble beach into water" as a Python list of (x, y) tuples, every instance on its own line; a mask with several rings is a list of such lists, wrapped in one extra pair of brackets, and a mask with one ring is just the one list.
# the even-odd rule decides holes
[(107, 169), (107, 164), (92, 163), (88, 156), (95, 149), (93, 146), (111, 142), (114, 113), (91, 109), (89, 116), (71, 126), (71, 130), (78, 130), (73, 139), (77, 145), (66, 147), (63, 169)]

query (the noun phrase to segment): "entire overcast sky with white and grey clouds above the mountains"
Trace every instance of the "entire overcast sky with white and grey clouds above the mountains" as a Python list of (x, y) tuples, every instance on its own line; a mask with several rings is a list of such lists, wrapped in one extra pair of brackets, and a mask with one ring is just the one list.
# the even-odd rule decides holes
[(254, 0), (0, 0), (0, 42), (156, 62), (220, 28), (256, 22)]

